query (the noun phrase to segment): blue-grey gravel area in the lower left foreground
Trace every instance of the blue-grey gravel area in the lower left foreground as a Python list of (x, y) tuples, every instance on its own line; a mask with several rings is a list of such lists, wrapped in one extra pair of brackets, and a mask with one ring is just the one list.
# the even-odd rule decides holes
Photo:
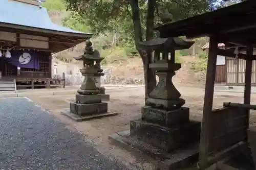
[(0, 169), (128, 169), (26, 98), (1, 99)]

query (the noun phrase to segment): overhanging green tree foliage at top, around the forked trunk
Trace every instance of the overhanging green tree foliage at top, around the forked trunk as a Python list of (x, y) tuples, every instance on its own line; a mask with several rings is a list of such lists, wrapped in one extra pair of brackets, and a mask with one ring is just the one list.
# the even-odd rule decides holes
[[(69, 9), (77, 11), (81, 17), (86, 20), (91, 27), (91, 32), (99, 34), (106, 30), (114, 30), (116, 32), (124, 31), (127, 36), (133, 34), (133, 11), (131, 2), (125, 0), (64, 0), (68, 3)], [(184, 19), (189, 16), (204, 13), (215, 8), (217, 0), (154, 0), (154, 16), (157, 15), (156, 6), (164, 6), (168, 12), (172, 13), (173, 21)], [(148, 3), (153, 1), (138, 1), (139, 16), (142, 26), (142, 32), (145, 33)], [(155, 18), (155, 26), (159, 24), (159, 18)], [(145, 38), (145, 35), (144, 35)]]

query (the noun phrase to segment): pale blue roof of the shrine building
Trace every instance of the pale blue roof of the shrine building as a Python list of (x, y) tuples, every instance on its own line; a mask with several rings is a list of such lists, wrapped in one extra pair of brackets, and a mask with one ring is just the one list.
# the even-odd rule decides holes
[(10, 0), (1, 0), (0, 7), (0, 22), (45, 30), (88, 35), (88, 33), (56, 25), (51, 21), (46, 8), (39, 8), (38, 6)]

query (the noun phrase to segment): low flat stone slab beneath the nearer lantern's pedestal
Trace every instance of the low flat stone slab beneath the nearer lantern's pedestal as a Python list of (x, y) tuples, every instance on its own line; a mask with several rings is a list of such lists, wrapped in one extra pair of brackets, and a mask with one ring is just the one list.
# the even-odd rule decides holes
[(161, 170), (189, 169), (191, 165), (198, 161), (199, 142), (167, 153), (142, 140), (131, 137), (130, 130), (114, 133), (109, 136), (109, 139), (113, 144), (131, 151), (135, 155), (147, 155), (158, 160), (156, 166)]

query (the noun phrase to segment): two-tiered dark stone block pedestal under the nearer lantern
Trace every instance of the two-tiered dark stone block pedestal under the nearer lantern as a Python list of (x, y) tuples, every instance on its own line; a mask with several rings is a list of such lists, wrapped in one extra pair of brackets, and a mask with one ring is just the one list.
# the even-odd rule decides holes
[(200, 128), (200, 122), (189, 121), (189, 108), (166, 111), (145, 106), (142, 119), (131, 121), (130, 135), (170, 152), (199, 140)]

